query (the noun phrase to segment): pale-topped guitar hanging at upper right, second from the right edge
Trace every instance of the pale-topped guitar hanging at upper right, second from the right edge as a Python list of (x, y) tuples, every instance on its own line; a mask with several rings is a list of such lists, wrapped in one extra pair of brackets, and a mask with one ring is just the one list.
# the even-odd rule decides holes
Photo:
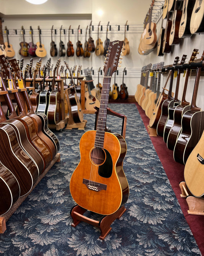
[(193, 12), (195, 0), (184, 0), (183, 1), (183, 8), (182, 8), (182, 15), (181, 15), (181, 21), (178, 31), (178, 36), (180, 38), (184, 37), (190, 37), (191, 31), (190, 31), (190, 22), (191, 22), (191, 15)]

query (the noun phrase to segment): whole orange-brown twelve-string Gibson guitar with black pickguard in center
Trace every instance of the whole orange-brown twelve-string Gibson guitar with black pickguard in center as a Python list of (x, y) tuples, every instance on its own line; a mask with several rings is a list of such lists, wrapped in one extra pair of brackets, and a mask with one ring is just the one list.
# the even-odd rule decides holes
[(122, 45), (123, 41), (109, 43), (96, 131), (87, 131), (82, 136), (81, 160), (70, 180), (70, 193), (74, 201), (82, 208), (104, 215), (117, 211), (129, 196), (129, 186), (122, 168), (126, 142), (121, 135), (104, 129), (111, 76), (117, 69)]

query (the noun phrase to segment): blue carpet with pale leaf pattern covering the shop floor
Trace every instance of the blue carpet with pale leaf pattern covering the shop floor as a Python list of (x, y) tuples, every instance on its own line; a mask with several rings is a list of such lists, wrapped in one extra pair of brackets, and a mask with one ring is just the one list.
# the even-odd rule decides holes
[[(111, 225), (102, 241), (99, 229), (80, 223), (71, 226), (70, 209), (75, 205), (69, 181), (79, 160), (79, 141), (94, 129), (95, 115), (85, 115), (85, 130), (63, 130), (60, 163), (49, 170), (33, 192), (7, 222), (0, 234), (4, 256), (64, 255), (201, 255), (180, 205), (163, 170), (134, 104), (110, 104), (127, 116), (127, 155), (124, 171), (129, 182), (127, 211)], [(108, 116), (108, 128), (120, 133), (121, 120)]]

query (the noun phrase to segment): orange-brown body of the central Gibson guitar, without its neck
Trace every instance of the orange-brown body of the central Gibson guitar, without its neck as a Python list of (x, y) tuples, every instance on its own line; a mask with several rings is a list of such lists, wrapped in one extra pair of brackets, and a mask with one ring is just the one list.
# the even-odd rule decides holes
[[(96, 131), (87, 131), (80, 140), (81, 159), (70, 180), (70, 193), (81, 207), (98, 214), (109, 215), (124, 205), (129, 187), (122, 169), (126, 142), (119, 134), (105, 132), (101, 149), (103, 163), (91, 159)], [(89, 185), (90, 184), (90, 185)], [(98, 191), (91, 186), (98, 186)]]

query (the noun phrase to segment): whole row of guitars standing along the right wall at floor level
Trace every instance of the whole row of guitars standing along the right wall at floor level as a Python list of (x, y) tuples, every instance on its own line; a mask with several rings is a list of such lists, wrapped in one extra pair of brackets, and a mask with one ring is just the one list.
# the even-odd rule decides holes
[[(197, 91), (199, 86), (199, 78), (203, 68), (204, 52), (199, 62), (194, 62), (198, 50), (194, 49), (191, 58), (187, 63), (186, 55), (181, 60), (175, 57), (173, 65), (162, 68), (163, 63), (148, 65), (142, 68), (141, 84), (137, 86), (135, 99), (142, 105), (145, 100), (144, 95), (148, 95), (153, 99), (153, 107), (149, 114), (149, 131), (156, 130), (157, 135), (163, 136), (167, 148), (173, 150), (174, 160), (184, 164), (184, 178), (186, 185), (194, 196), (202, 196), (204, 194), (204, 186), (202, 180), (203, 164), (204, 164), (204, 111), (196, 106)], [(186, 101), (186, 90), (188, 86), (188, 78), (191, 70), (196, 70), (194, 90), (191, 103)], [(168, 77), (163, 90), (160, 92), (160, 76), (163, 71), (168, 71)], [(182, 98), (178, 99), (178, 90), (180, 86), (180, 75), (185, 72), (185, 83)], [(150, 86), (147, 80), (151, 74)], [(175, 94), (172, 93), (173, 78), (176, 73), (176, 89)], [(166, 85), (170, 79), (168, 94), (165, 93)], [(155, 88), (157, 93), (155, 95)], [(141, 93), (142, 91), (142, 93)], [(142, 97), (144, 100), (142, 100)], [(149, 102), (148, 102), (149, 104)], [(144, 106), (144, 105), (143, 105)], [(145, 108), (146, 113), (146, 108)], [(151, 133), (151, 132), (150, 132)]]

